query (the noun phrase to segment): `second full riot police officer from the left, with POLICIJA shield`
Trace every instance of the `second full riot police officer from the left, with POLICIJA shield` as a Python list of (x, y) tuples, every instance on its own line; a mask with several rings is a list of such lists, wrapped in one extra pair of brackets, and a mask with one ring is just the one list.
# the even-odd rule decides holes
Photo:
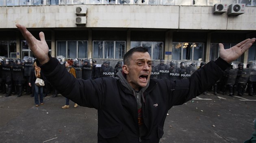
[[(13, 65), (12, 73), (13, 73), (13, 81), (16, 87), (17, 97), (22, 96), (23, 91), (23, 71), (24, 67), (20, 59), (15, 60), (15, 65)], [(14, 86), (13, 86), (14, 87)]]

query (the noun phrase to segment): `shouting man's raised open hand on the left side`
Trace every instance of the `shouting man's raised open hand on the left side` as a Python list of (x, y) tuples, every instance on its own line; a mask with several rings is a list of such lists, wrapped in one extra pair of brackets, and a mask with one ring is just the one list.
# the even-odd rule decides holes
[(39, 33), (40, 40), (37, 40), (27, 29), (25, 26), (16, 24), (16, 27), (20, 30), (26, 42), (28, 43), (28, 47), (32, 51), (33, 55), (38, 59), (41, 65), (47, 63), (50, 58), (48, 56), (49, 48), (46, 43), (43, 32)]

